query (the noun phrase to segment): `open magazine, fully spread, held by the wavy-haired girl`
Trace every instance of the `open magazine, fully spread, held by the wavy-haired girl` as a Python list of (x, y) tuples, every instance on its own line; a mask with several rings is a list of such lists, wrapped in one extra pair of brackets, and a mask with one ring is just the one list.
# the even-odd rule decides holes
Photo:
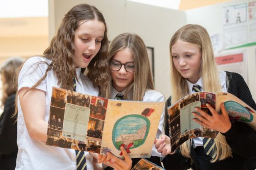
[(108, 100), (53, 87), (47, 145), (149, 158), (164, 102)]

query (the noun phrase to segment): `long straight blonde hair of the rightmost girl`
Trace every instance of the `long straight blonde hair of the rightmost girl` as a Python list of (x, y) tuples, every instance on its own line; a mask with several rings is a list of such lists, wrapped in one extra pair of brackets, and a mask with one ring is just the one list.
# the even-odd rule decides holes
[[(186, 79), (181, 76), (174, 66), (172, 56), (172, 46), (178, 41), (182, 40), (187, 43), (195, 44), (201, 48), (202, 63), (201, 63), (201, 75), (203, 82), (203, 89), (205, 91), (218, 93), (222, 91), (220, 78), (218, 75), (218, 69), (215, 63), (215, 58), (212, 50), (211, 39), (205, 28), (199, 25), (188, 24), (181, 27), (176, 31), (170, 40), (170, 61), (171, 61), (171, 94), (172, 103), (180, 100), (182, 97), (189, 95), (189, 89), (186, 83)], [(226, 138), (218, 133), (214, 139), (215, 148), (214, 152), (216, 157), (211, 162), (217, 160), (223, 160), (232, 156), (231, 148), (226, 142)], [(185, 157), (190, 157), (191, 142), (187, 140), (180, 146), (180, 152)]]

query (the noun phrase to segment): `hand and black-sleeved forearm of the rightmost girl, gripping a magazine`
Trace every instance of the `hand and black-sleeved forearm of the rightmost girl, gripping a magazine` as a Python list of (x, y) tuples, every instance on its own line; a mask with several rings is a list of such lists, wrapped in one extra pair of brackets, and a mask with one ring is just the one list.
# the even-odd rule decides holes
[(212, 112), (212, 116), (196, 108), (202, 116), (193, 113), (197, 117), (193, 120), (202, 126), (221, 132), (226, 137), (233, 153), (245, 158), (255, 157), (256, 133), (254, 130), (243, 122), (231, 123), (223, 103), (221, 104), (222, 114), (218, 114), (209, 104), (207, 107)]

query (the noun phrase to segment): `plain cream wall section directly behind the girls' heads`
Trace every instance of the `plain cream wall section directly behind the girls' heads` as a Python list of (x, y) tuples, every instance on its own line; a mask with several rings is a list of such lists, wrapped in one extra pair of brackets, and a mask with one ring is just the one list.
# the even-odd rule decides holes
[(49, 0), (50, 38), (64, 14), (81, 3), (94, 5), (103, 13), (109, 27), (109, 40), (120, 33), (133, 32), (154, 48), (155, 87), (169, 97), (169, 40), (185, 24), (185, 12), (126, 0)]

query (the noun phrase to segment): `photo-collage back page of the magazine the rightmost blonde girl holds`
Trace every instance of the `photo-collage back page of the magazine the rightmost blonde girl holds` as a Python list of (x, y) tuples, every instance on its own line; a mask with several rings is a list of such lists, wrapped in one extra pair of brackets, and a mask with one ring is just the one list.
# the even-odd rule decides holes
[(216, 131), (202, 127), (200, 124), (192, 120), (195, 118), (192, 115), (192, 112), (196, 112), (195, 107), (201, 108), (203, 111), (211, 114), (206, 103), (209, 103), (213, 108), (215, 108), (215, 102), (215, 94), (197, 92), (185, 96), (168, 108), (171, 152), (177, 149), (188, 139), (196, 137), (216, 137)]

